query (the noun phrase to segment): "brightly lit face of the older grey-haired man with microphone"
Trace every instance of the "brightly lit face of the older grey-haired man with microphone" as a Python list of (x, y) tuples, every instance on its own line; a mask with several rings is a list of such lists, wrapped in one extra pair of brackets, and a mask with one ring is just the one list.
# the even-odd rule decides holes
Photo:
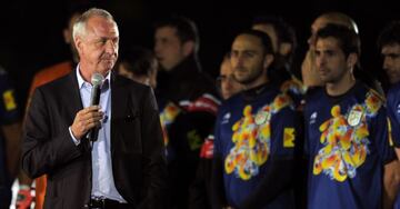
[(119, 32), (117, 24), (102, 17), (92, 17), (87, 22), (86, 34), (78, 38), (80, 62), (94, 72), (106, 76), (118, 58)]

